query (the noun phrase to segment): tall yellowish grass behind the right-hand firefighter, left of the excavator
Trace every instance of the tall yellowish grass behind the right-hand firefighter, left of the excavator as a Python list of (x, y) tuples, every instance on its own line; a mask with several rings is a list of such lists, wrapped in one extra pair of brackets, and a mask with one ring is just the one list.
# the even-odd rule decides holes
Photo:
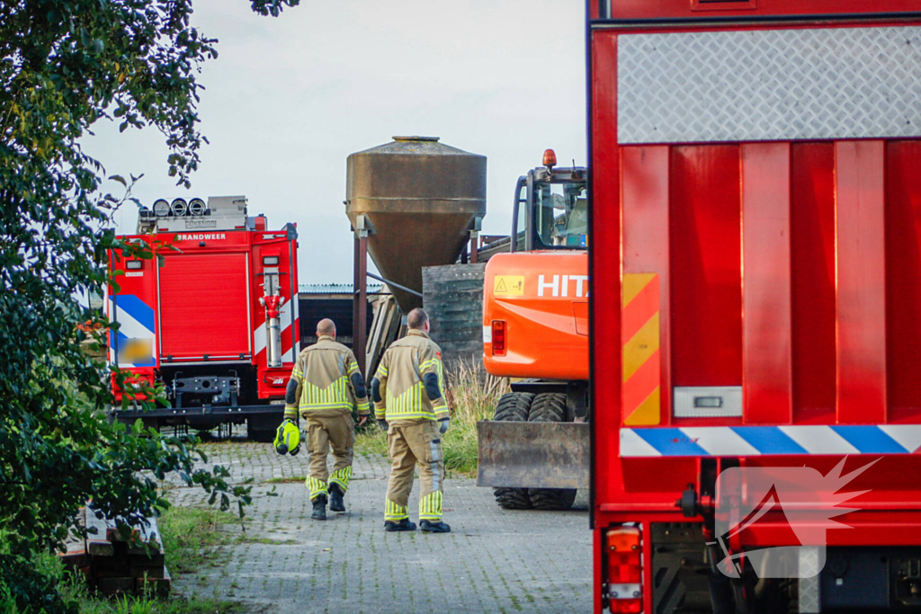
[[(449, 473), (472, 476), (479, 458), (476, 423), (492, 420), (495, 404), (509, 392), (508, 380), (484, 377), (473, 365), (461, 363), (448, 375), (448, 404), (451, 427), (442, 437), (445, 469)], [(363, 456), (387, 456), (387, 434), (374, 423), (356, 433), (356, 453)]]

